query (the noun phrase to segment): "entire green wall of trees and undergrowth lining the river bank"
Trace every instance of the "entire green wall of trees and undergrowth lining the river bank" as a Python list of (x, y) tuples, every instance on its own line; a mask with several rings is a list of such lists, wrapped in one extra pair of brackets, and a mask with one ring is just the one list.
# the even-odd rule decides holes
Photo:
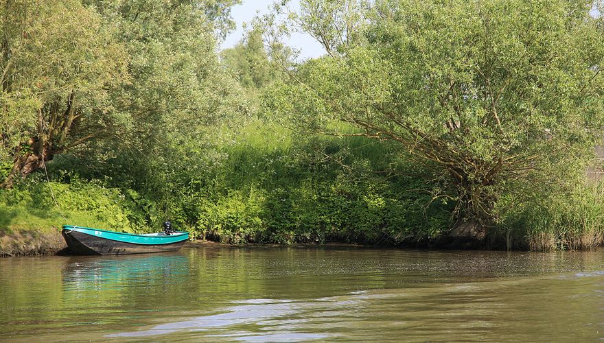
[(238, 2), (0, 0), (0, 229), (604, 240), (601, 1), (276, 3), (219, 51)]

